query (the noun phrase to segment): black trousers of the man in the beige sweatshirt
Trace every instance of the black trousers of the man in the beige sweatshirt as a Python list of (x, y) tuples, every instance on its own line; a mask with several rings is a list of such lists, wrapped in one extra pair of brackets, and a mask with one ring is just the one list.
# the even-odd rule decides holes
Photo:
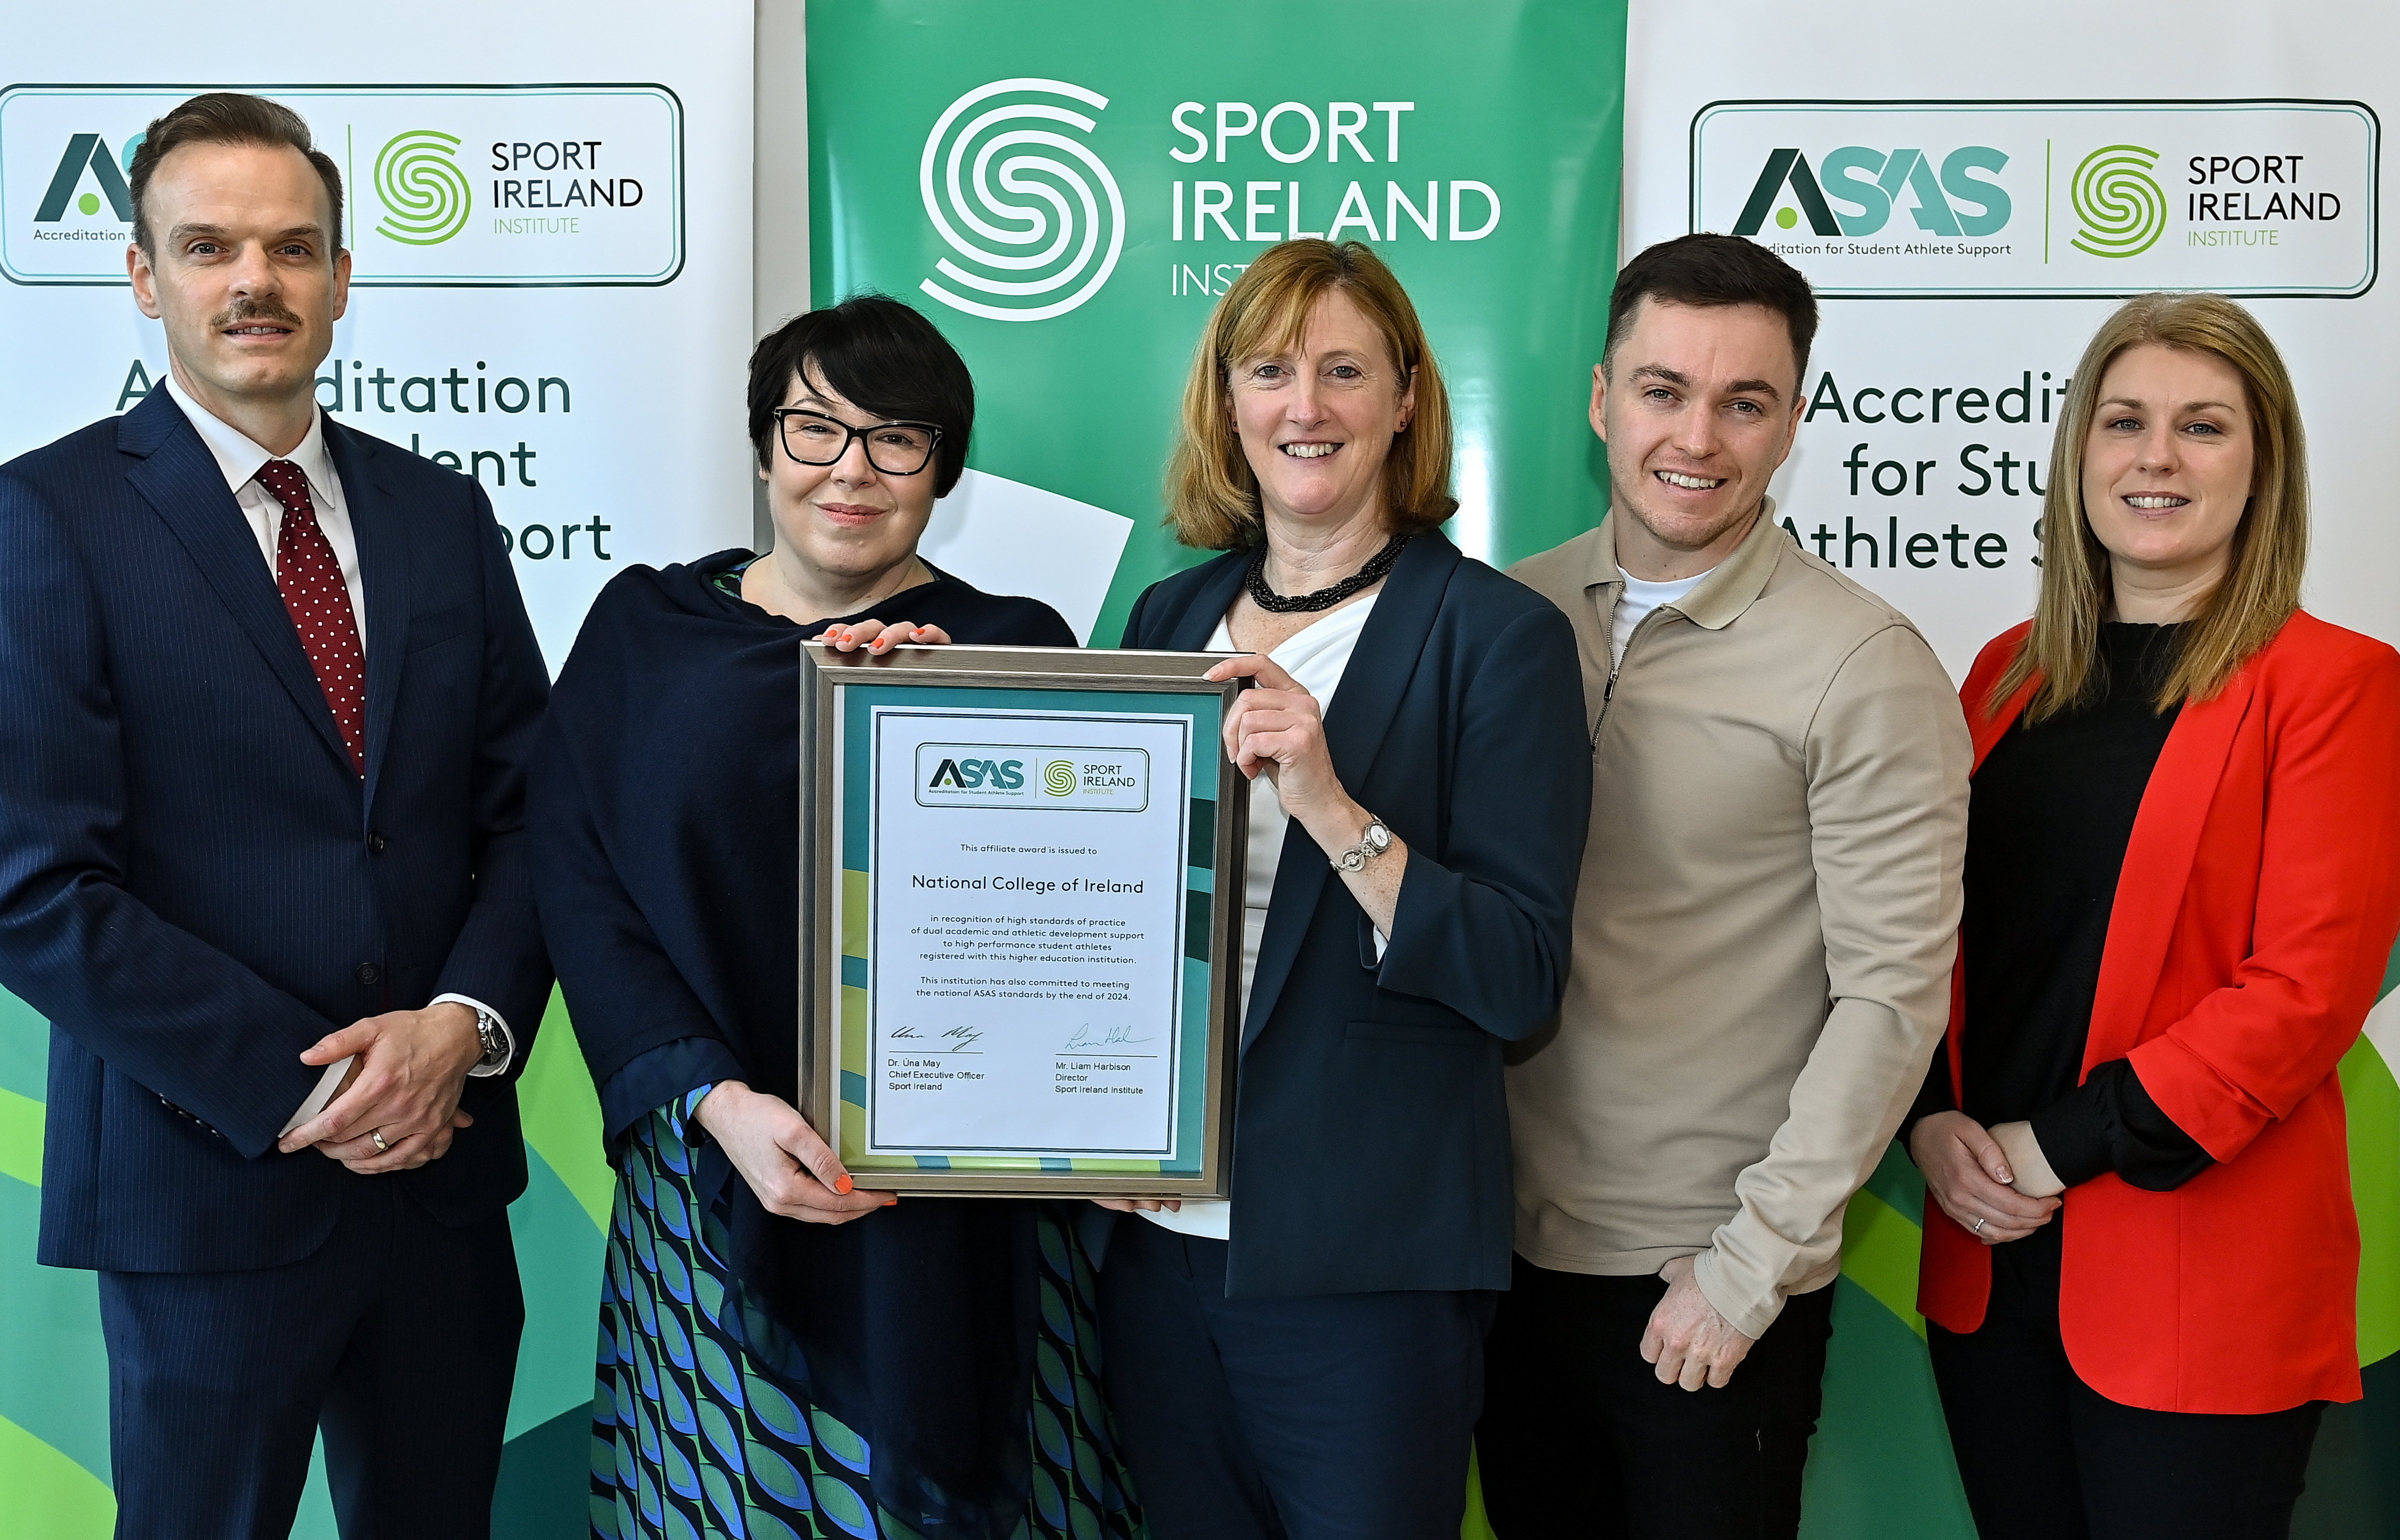
[(1834, 1291), (1793, 1295), (1733, 1382), (1687, 1391), (1642, 1362), (1656, 1274), (1517, 1257), (1483, 1348), (1483, 1509), (1500, 1540), (1788, 1540), (1824, 1406)]

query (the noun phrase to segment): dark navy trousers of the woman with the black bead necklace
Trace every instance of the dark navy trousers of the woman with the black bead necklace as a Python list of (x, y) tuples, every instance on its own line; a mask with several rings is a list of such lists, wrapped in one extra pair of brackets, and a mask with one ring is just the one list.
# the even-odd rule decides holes
[(1102, 1379), (1154, 1540), (1457, 1540), (1490, 1291), (1224, 1298), (1224, 1240), (1126, 1216)]

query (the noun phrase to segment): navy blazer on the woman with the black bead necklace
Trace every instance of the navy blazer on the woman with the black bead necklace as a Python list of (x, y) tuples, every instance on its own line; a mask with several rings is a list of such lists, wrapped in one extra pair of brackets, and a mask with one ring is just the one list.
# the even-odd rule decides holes
[[(1248, 552), (1154, 583), (1128, 648), (1198, 652)], [(1591, 746), (1574, 631), (1440, 533), (1385, 578), (1325, 712), (1409, 844), (1390, 948), (1298, 823), (1241, 1027), (1229, 1295), (1507, 1288), (1500, 1043), (1567, 986)]]

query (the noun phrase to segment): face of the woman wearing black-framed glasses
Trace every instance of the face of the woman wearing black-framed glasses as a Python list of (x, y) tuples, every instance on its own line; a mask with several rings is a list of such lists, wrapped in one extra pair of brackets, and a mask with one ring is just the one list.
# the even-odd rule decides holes
[[(809, 381), (806, 367), (792, 374), (785, 405), (823, 413), (850, 427), (876, 427), (883, 417), (859, 410), (823, 381)], [(890, 458), (890, 456), (886, 456)], [(900, 461), (893, 461), (900, 463)], [(833, 465), (802, 465), (782, 444), (768, 439), (768, 509), (775, 516), (775, 559), (794, 559), (818, 583), (847, 588), (874, 583), (917, 554), (926, 521), (934, 518), (934, 475), (938, 458), (926, 458), (914, 475), (876, 470), (866, 441), (852, 439)]]

